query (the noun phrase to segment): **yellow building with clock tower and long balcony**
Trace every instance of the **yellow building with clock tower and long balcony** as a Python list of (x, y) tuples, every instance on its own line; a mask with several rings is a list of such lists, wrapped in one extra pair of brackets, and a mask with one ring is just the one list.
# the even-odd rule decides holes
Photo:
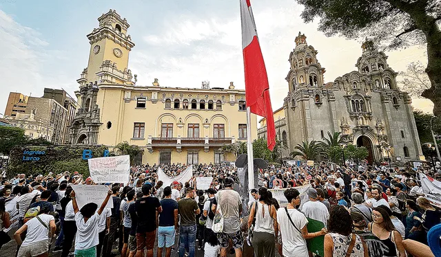
[[(245, 91), (227, 88), (136, 85), (128, 67), (134, 47), (126, 19), (110, 10), (88, 34), (88, 67), (79, 82), (80, 109), (71, 126), (72, 144), (105, 144), (112, 148), (127, 141), (144, 148), (142, 162), (218, 163), (234, 161), (220, 147), (246, 140)], [(132, 78), (134, 77), (134, 81)], [(256, 116), (252, 116), (256, 139)]]

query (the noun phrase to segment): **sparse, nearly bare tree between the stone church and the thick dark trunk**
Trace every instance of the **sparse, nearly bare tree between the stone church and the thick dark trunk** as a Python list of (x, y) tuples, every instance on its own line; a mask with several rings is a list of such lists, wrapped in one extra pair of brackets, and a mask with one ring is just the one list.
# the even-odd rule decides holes
[(412, 97), (421, 98), (422, 92), (431, 87), (429, 77), (420, 62), (407, 65), (407, 71), (401, 71), (400, 76), (404, 78), (401, 82), (402, 89)]

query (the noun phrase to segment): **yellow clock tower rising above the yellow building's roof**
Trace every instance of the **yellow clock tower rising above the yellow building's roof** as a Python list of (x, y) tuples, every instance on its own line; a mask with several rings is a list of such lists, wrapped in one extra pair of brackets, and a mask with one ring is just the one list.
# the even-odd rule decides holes
[[(79, 82), (80, 87), (95, 81), (97, 84), (131, 82), (132, 74), (127, 69), (127, 65), (134, 43), (127, 34), (129, 23), (125, 18), (121, 19), (116, 10), (112, 9), (101, 15), (98, 21), (99, 27), (94, 28), (87, 35), (90, 43), (88, 67), (76, 81)], [(110, 70), (112, 72), (109, 72)]]

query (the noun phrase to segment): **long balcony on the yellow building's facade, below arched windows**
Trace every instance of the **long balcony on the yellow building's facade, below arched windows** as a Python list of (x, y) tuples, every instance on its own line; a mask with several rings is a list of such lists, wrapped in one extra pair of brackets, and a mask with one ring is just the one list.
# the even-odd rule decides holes
[(236, 140), (234, 137), (147, 137), (147, 149), (150, 153), (153, 153), (154, 147), (176, 147), (176, 151), (179, 153), (182, 147), (199, 146), (203, 147), (205, 152), (208, 152), (209, 147), (220, 147), (225, 144), (232, 144)]

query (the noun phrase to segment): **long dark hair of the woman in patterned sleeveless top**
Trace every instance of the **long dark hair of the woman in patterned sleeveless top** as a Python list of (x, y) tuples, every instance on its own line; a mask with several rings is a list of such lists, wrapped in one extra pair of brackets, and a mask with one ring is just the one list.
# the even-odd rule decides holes
[[(390, 219), (389, 219), (390, 220)], [(349, 236), (352, 232), (351, 214), (341, 205), (334, 205), (331, 208), (328, 220), (329, 232)]]

